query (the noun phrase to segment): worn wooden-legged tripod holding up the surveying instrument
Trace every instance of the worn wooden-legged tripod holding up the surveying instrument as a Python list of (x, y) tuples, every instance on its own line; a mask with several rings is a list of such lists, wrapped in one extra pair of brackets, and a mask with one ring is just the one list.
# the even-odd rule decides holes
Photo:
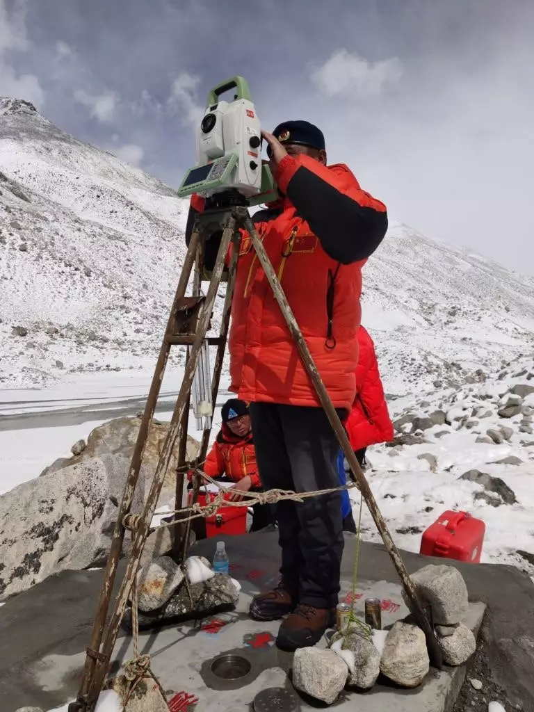
[[(213, 222), (215, 219), (219, 219), (219, 224), (223, 227), (221, 244), (219, 246), (219, 251), (217, 253), (214, 270), (211, 273), (211, 279), (209, 282), (209, 288), (206, 296), (194, 295), (187, 297), (185, 292), (187, 290), (187, 284), (189, 281), (189, 276), (191, 275), (194, 263), (196, 263), (195, 270), (197, 285), (199, 284), (199, 275), (201, 272), (201, 266), (203, 265), (203, 250), (204, 241), (201, 239), (201, 224), (203, 221), (210, 220)], [(391, 535), (387, 525), (382, 518), (382, 514), (379, 511), (377, 503), (374, 496), (370, 490), (364, 473), (357, 462), (354, 451), (350, 446), (350, 442), (345, 433), (345, 429), (337, 416), (335, 408), (330, 400), (325, 385), (319, 375), (313, 358), (310, 355), (308, 346), (304, 340), (300, 328), (295, 320), (293, 312), (286, 300), (286, 296), (283, 293), (281, 284), (278, 281), (276, 273), (273, 270), (273, 266), (269, 261), (265, 248), (261, 242), (258, 233), (253, 226), (251, 217), (248, 214), (248, 209), (246, 206), (234, 206), (228, 207), (223, 210), (212, 211), (209, 214), (201, 214), (197, 216), (197, 221), (194, 226), (192, 239), (189, 243), (189, 248), (187, 250), (187, 255), (184, 260), (184, 266), (182, 268), (182, 273), (179, 278), (178, 287), (176, 295), (174, 296), (174, 302), (172, 304), (171, 313), (169, 315), (169, 320), (167, 323), (167, 328), (165, 330), (164, 339), (162, 342), (162, 347), (159, 352), (159, 357), (157, 360), (157, 365), (152, 379), (152, 384), (150, 387), (150, 392), (147, 398), (147, 404), (145, 406), (145, 412), (142, 417), (142, 422), (140, 425), (140, 431), (137, 436), (137, 442), (135, 444), (135, 449), (132, 455), (132, 462), (130, 465), (130, 471), (127, 476), (127, 481), (125, 484), (125, 490), (122, 496), (122, 502), (120, 503), (119, 512), (117, 515), (117, 523), (115, 524), (115, 531), (113, 533), (112, 544), (110, 548), (110, 554), (108, 557), (108, 564), (105, 569), (104, 580), (102, 589), (100, 591), (100, 598), (98, 601), (98, 609), (95, 617), (95, 622), (93, 624), (93, 632), (91, 635), (90, 646), (87, 649), (87, 656), (85, 658), (85, 667), (83, 671), (83, 679), (80, 685), (80, 690), (78, 692), (78, 698), (75, 702), (71, 703), (69, 706), (69, 712), (93, 712), (95, 705), (98, 701), (98, 696), (103, 687), (105, 676), (108, 672), (108, 666), (110, 664), (110, 659), (112, 656), (113, 649), (115, 647), (115, 642), (117, 640), (117, 635), (119, 632), (120, 622), (122, 616), (125, 612), (128, 597), (130, 595), (130, 588), (132, 582), (137, 573), (137, 568), (139, 566), (140, 558), (142, 555), (142, 550), (145, 545), (145, 540), (148, 533), (150, 533), (150, 522), (152, 521), (152, 516), (154, 515), (155, 508), (157, 506), (157, 501), (159, 498), (159, 493), (161, 491), (165, 475), (167, 473), (167, 468), (169, 467), (169, 462), (174, 451), (174, 447), (179, 441), (178, 446), (178, 466), (177, 466), (177, 480), (176, 480), (176, 508), (179, 508), (182, 503), (183, 488), (184, 488), (184, 478), (185, 478), (185, 461), (186, 461), (186, 448), (187, 448), (187, 423), (189, 417), (189, 400), (191, 394), (191, 388), (194, 381), (194, 375), (197, 370), (197, 364), (199, 362), (199, 357), (201, 350), (204, 346), (206, 333), (210, 328), (210, 319), (214, 307), (214, 302), (216, 298), (217, 291), (219, 289), (219, 284), (224, 273), (226, 254), (229, 251), (229, 246), (232, 245), (231, 258), (229, 262), (228, 271), (228, 283), (226, 287), (226, 298), (224, 301), (224, 310), (221, 318), (221, 326), (219, 330), (218, 337), (212, 337), (208, 339), (210, 345), (217, 346), (216, 360), (214, 365), (214, 375), (211, 381), (211, 402), (216, 402), (216, 395), (219, 390), (219, 380), (221, 377), (222, 362), (224, 358), (224, 350), (226, 347), (226, 337), (228, 334), (229, 320), (230, 320), (230, 310), (231, 301), (234, 293), (234, 283), (236, 276), (236, 265), (237, 258), (239, 255), (239, 243), (241, 241), (241, 229), (244, 229), (251, 237), (253, 248), (256, 251), (256, 256), (258, 261), (266, 273), (268, 282), (273, 290), (273, 294), (276, 298), (278, 306), (286, 319), (288, 329), (290, 331), (295, 345), (298, 349), (300, 358), (305, 365), (308, 375), (310, 376), (315, 391), (318, 394), (318, 399), (320, 404), (325, 409), (330, 424), (332, 424), (337, 439), (342, 446), (345, 453), (345, 458), (347, 459), (351, 471), (352, 477), (355, 479), (360, 492), (362, 493), (365, 503), (369, 508), (377, 529), (382, 536), (384, 546), (387, 549), (390, 557), (392, 558), (393, 565), (397, 570), (399, 578), (404, 587), (404, 591), (409, 599), (409, 607), (414, 613), (419, 627), (424, 630), (426, 635), (426, 643), (429, 649), (429, 655), (432, 664), (441, 669), (442, 666), (442, 654), (439, 647), (439, 643), (434, 634), (434, 630), (431, 627), (429, 619), (417, 599), (416, 592), (414, 590), (414, 585), (409, 579), (408, 572), (404, 566), (404, 562), (397, 551), (396, 546), (392, 540)], [(135, 526), (130, 525), (126, 515), (130, 513), (130, 507), (132, 505), (132, 498), (135, 491), (135, 486), (137, 484), (137, 478), (140, 472), (140, 466), (142, 462), (142, 456), (145, 451), (145, 444), (147, 441), (147, 434), (150, 427), (150, 422), (155, 412), (157, 397), (159, 394), (159, 389), (162, 384), (162, 379), (164, 375), (165, 366), (167, 365), (167, 359), (169, 357), (170, 348), (173, 345), (187, 345), (190, 347), (189, 356), (187, 357), (187, 362), (185, 366), (184, 379), (182, 381), (182, 386), (180, 387), (179, 394), (177, 397), (177, 402), (174, 407), (174, 412), (172, 414), (172, 419), (169, 424), (169, 430), (167, 431), (167, 437), (164, 441), (162, 447), (162, 452), (159, 457), (159, 461), (156, 466), (156, 471), (154, 479), (152, 481), (152, 486), (150, 488), (150, 493), (147, 497), (145, 504), (145, 510), (142, 513), (140, 522), (136, 523)], [(206, 457), (206, 451), (209, 443), (209, 431), (204, 430), (204, 434), (201, 439), (201, 444), (199, 448), (199, 453), (197, 455), (196, 463), (201, 463)], [(197, 483), (194, 486), (194, 498), (196, 498), (199, 489), (199, 483), (197, 478)], [(195, 501), (195, 499), (194, 499)], [(126, 517), (126, 520), (125, 520)], [(131, 518), (130, 518), (131, 521)], [(187, 545), (189, 542), (189, 524), (187, 525), (177, 525), (174, 532), (174, 545), (173, 545), (173, 556), (175, 560), (182, 560), (187, 552)], [(110, 605), (110, 599), (112, 595), (112, 588), (115, 581), (115, 573), (117, 571), (117, 564), (120, 557), (120, 552), (122, 550), (122, 542), (124, 540), (125, 530), (129, 529), (132, 532), (132, 547), (130, 557), (127, 560), (127, 567), (125, 571), (124, 578), (120, 585), (120, 589), (117, 593), (114, 607), (112, 609), (112, 614), (110, 616), (108, 627), (103, 635), (106, 618), (108, 617), (108, 608)]]

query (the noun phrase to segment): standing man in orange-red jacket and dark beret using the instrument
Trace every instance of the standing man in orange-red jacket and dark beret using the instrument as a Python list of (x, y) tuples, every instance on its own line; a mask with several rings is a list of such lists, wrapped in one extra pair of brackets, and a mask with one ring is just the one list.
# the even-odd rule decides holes
[[(360, 188), (345, 164), (327, 166), (325, 139), (313, 124), (288, 121), (274, 135), (262, 135), (281, 200), (252, 219), (345, 419), (356, 394), (361, 268), (387, 230), (386, 207)], [(203, 209), (198, 196), (192, 209), (187, 239), (194, 210)], [(231, 318), (230, 388), (251, 402), (263, 487), (305, 492), (339, 486), (337, 437), (246, 233)], [(335, 622), (344, 543), (340, 493), (280, 502), (276, 514), (281, 581), (253, 600), (250, 615), (283, 618), (277, 644), (294, 650), (314, 645)]]

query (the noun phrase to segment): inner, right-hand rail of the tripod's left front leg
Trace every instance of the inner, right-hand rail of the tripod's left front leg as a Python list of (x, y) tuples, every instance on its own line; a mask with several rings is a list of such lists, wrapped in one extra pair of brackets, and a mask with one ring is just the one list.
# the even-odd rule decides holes
[[(211, 318), (211, 312), (213, 310), (216, 293), (219, 288), (219, 283), (221, 281), (221, 276), (224, 270), (224, 260), (226, 258), (226, 251), (228, 250), (231, 236), (234, 234), (234, 229), (235, 220), (233, 217), (229, 217), (225, 229), (223, 231), (221, 245), (219, 246), (219, 253), (217, 254), (216, 263), (213, 271), (213, 277), (209, 285), (206, 300), (201, 308), (201, 314), (199, 316), (199, 321), (197, 325), (197, 333), (195, 334), (189, 361), (184, 372), (184, 379), (182, 380), (182, 386), (180, 387), (179, 396), (174, 407), (171, 422), (169, 424), (167, 437), (165, 438), (162, 451), (159, 456), (154, 480), (152, 481), (152, 487), (150, 488), (150, 493), (147, 497), (145, 511), (142, 514), (142, 520), (140, 522), (140, 525), (135, 530), (135, 535), (133, 536), (132, 551), (127, 562), (125, 577), (122, 580), (120, 590), (117, 594), (117, 599), (115, 600), (115, 607), (113, 608), (110, 617), (110, 622), (105, 632), (101, 651), (101, 655), (103, 656), (104, 660), (110, 660), (113, 648), (115, 647), (120, 622), (125, 612), (133, 579), (137, 574), (137, 568), (139, 566), (147, 533), (150, 528), (150, 522), (155, 512), (159, 492), (161, 491), (164, 477), (169, 466), (169, 461), (172, 457), (174, 445), (176, 444), (176, 441), (180, 435), (180, 426), (182, 424), (182, 417), (184, 409), (186, 407), (187, 397), (191, 390), (194, 372), (197, 368), (197, 364), (199, 361), (201, 345), (204, 341), (204, 337), (206, 336), (206, 331), (208, 329), (209, 320)], [(182, 281), (182, 278), (180, 278), (180, 281)], [(95, 672), (88, 693), (90, 712), (93, 712), (95, 705), (98, 701), (98, 696), (100, 695), (106, 672), (107, 669), (104, 664), (98, 664), (95, 667)]]

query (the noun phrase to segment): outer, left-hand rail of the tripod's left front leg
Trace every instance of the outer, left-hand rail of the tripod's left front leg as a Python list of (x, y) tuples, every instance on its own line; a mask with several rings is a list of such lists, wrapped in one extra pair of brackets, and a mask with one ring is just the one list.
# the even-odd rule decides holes
[[(187, 282), (189, 281), (189, 275), (191, 274), (192, 266), (194, 263), (194, 256), (197, 253), (198, 242), (199, 232), (194, 231), (191, 242), (189, 244), (189, 248), (187, 250), (187, 254), (185, 256), (184, 266), (182, 268), (182, 273), (180, 274), (176, 294), (174, 295), (174, 302), (172, 303), (172, 308), (169, 313), (169, 320), (167, 323), (167, 328), (165, 330), (166, 334), (171, 324), (174, 309), (176, 308), (179, 300), (184, 296), (185, 290), (187, 289)], [(113, 584), (115, 582), (117, 563), (120, 558), (120, 553), (122, 551), (122, 543), (124, 541), (125, 528), (122, 525), (122, 521), (124, 520), (125, 515), (130, 512), (130, 507), (132, 506), (132, 499), (135, 492), (135, 486), (137, 485), (137, 479), (139, 478), (142, 457), (145, 452), (145, 446), (147, 444), (148, 430), (150, 428), (150, 422), (152, 422), (152, 417), (154, 417), (157, 397), (159, 396), (159, 390), (161, 389), (163, 374), (167, 365), (167, 359), (169, 357), (169, 351), (170, 346), (167, 343), (167, 340), (164, 338), (162, 346), (159, 350), (159, 356), (157, 358), (154, 376), (152, 377), (152, 383), (150, 384), (150, 391), (148, 393), (147, 403), (145, 404), (145, 411), (143, 412), (139, 433), (137, 434), (137, 441), (135, 443), (135, 449), (132, 454), (130, 471), (128, 472), (125, 489), (122, 494), (122, 501), (120, 503), (119, 511), (117, 513), (117, 521), (115, 522), (115, 530), (113, 532), (110, 553), (108, 555), (108, 563), (105, 568), (103, 585), (100, 590), (100, 596), (98, 599), (97, 612), (95, 622), (93, 624), (93, 631), (91, 633), (91, 640), (89, 646), (89, 650), (92, 651), (93, 654), (96, 653), (97, 656), (92, 656), (91, 654), (88, 654), (85, 657), (83, 678), (80, 685), (80, 691), (78, 692), (78, 698), (75, 703), (71, 703), (72, 709), (69, 708), (69, 712), (77, 712), (77, 710), (83, 710), (85, 708), (85, 699), (89, 690), (90, 679), (93, 676), (93, 671), (95, 669), (95, 657), (98, 657), (98, 651), (100, 650), (100, 642), (102, 641), (105, 619), (108, 616), (110, 598), (112, 594)]]

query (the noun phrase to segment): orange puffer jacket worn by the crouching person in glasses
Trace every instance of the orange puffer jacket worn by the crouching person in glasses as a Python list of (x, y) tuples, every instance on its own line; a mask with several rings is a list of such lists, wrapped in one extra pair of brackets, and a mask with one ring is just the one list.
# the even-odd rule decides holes
[(248, 475), (253, 488), (261, 487), (252, 431), (241, 438), (223, 423), (202, 469), (210, 477), (226, 475), (234, 482)]

